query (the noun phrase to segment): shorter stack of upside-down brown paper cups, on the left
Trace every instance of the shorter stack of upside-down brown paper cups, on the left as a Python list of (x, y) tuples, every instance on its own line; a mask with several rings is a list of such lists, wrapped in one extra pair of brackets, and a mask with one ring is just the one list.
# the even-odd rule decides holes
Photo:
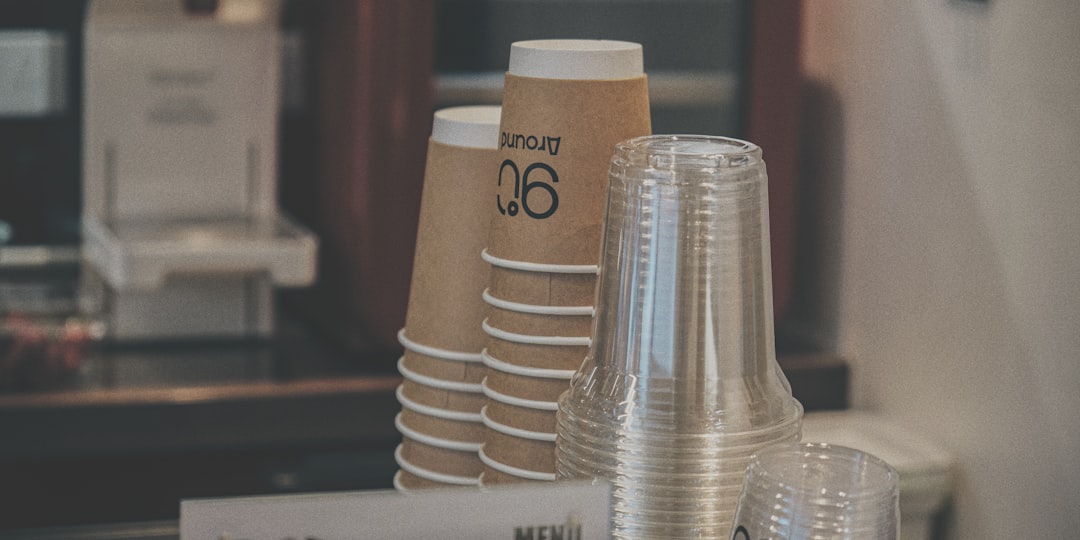
[(432, 124), (409, 306), (397, 334), (405, 349), (394, 420), (400, 490), (480, 484), (489, 267), (478, 254), (490, 225), (499, 118), (499, 107), (454, 107), (436, 111)]

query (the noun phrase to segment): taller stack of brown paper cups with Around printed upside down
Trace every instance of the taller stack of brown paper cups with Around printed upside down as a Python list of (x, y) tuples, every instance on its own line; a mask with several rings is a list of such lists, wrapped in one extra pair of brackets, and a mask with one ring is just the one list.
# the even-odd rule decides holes
[(555, 478), (555, 410), (589, 351), (607, 170), (651, 131), (642, 46), (514, 43), (483, 293), (483, 485)]

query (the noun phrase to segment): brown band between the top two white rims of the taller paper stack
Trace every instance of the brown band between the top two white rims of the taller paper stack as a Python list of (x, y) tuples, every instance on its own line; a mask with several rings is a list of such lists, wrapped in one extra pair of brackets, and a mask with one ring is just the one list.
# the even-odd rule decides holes
[(596, 301), (596, 274), (532, 272), (492, 266), (488, 293), (501, 300), (532, 306), (592, 306)]

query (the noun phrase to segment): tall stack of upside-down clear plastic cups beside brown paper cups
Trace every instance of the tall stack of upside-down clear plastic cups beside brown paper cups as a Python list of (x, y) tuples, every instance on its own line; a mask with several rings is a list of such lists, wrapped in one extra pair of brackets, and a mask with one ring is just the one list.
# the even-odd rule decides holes
[(657, 135), (611, 160), (592, 345), (556, 473), (612, 486), (616, 538), (724, 538), (751, 456), (797, 442), (775, 360), (760, 149)]

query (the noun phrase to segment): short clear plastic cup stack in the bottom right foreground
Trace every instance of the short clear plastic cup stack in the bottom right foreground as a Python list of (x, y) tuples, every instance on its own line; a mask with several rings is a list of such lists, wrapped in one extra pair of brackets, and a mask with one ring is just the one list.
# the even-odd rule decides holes
[(746, 470), (732, 540), (896, 540), (899, 475), (865, 451), (778, 445)]

